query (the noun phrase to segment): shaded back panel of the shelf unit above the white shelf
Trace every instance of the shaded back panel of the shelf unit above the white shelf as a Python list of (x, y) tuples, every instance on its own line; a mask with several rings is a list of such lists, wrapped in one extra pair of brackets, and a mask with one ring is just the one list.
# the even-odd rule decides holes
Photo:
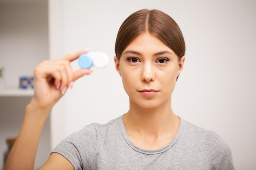
[[(23, 2), (24, 1), (24, 2)], [(49, 58), (47, 0), (0, 1), (0, 67), (7, 88)]]

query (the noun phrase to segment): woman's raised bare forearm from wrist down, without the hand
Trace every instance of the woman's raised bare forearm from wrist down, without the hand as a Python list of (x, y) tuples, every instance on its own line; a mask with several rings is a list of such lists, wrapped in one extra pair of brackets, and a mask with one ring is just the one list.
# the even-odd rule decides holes
[(33, 170), (36, 151), (50, 109), (40, 109), (33, 104), (26, 108), (20, 133), (13, 145), (4, 170)]

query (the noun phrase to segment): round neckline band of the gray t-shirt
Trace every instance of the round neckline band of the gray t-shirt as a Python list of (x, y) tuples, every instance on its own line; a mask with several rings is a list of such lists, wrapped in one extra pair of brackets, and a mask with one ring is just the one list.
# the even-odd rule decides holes
[(159, 154), (159, 153), (165, 152), (166, 150), (171, 148), (177, 142), (177, 140), (180, 138), (180, 135), (182, 134), (182, 130), (183, 130), (183, 125), (184, 125), (184, 120), (182, 118), (180, 118), (179, 129), (178, 129), (176, 135), (173, 137), (173, 139), (162, 148), (155, 149), (155, 150), (148, 150), (148, 149), (140, 148), (140, 147), (136, 146), (135, 144), (133, 144), (133, 142), (130, 140), (130, 137), (128, 136), (128, 134), (126, 132), (123, 117), (124, 117), (124, 115), (119, 117), (119, 126), (120, 126), (121, 132), (122, 132), (127, 144), (133, 150), (135, 150), (137, 152), (141, 152), (143, 154), (148, 154), (148, 155)]

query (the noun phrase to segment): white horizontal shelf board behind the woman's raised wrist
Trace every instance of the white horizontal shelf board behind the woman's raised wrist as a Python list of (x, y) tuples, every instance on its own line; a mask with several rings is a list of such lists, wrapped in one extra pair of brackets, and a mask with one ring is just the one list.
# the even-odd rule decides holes
[(32, 97), (34, 95), (34, 90), (23, 90), (18, 88), (4, 88), (0, 89), (0, 97)]

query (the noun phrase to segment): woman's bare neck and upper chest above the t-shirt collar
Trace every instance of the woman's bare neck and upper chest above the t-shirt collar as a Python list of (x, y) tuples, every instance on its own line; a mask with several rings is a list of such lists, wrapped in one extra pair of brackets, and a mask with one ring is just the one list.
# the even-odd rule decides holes
[(142, 108), (130, 101), (124, 126), (131, 141), (144, 149), (158, 149), (168, 144), (180, 126), (171, 109), (171, 100), (157, 108)]

